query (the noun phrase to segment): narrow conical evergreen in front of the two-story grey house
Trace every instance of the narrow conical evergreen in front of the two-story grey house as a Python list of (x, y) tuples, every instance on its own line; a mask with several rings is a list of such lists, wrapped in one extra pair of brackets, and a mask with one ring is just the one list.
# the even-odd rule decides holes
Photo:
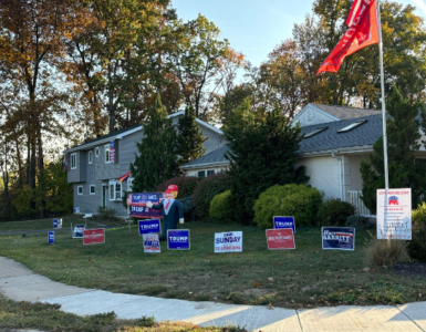
[(176, 131), (159, 95), (149, 112), (149, 121), (143, 128), (145, 137), (136, 143), (138, 155), (131, 163), (132, 187), (135, 193), (155, 190), (157, 185), (179, 174)]

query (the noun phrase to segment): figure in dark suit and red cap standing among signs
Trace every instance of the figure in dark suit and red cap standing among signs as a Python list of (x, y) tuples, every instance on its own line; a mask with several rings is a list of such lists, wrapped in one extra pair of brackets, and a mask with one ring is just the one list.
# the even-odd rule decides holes
[(165, 241), (167, 239), (167, 230), (176, 229), (177, 221), (179, 224), (184, 224), (184, 208), (179, 200), (175, 199), (177, 197), (177, 186), (170, 185), (168, 186), (166, 194), (167, 198), (164, 199), (160, 204), (152, 204), (148, 201), (146, 206), (154, 210), (163, 209), (163, 235), (159, 237), (160, 241)]

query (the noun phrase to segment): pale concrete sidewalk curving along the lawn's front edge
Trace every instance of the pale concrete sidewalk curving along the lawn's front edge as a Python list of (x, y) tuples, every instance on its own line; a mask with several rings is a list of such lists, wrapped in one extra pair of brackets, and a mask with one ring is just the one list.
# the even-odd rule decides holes
[(153, 315), (157, 321), (186, 321), (200, 326), (232, 324), (262, 332), (426, 332), (426, 302), (397, 307), (342, 305), (290, 310), (158, 299), (65, 286), (34, 274), (22, 264), (3, 257), (0, 257), (0, 291), (15, 301), (59, 303), (62, 311), (79, 315), (114, 311), (120, 319)]

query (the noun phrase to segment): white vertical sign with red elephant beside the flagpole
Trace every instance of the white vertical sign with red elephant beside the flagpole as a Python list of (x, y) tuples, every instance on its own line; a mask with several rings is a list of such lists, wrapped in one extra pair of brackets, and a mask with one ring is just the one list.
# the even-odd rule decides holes
[(412, 239), (412, 188), (377, 189), (377, 239)]

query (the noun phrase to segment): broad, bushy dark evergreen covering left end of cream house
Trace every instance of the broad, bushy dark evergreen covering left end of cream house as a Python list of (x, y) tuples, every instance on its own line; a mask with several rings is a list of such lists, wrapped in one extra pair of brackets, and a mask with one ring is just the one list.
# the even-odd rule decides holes
[(251, 222), (254, 200), (267, 188), (309, 180), (305, 167), (295, 167), (300, 128), (278, 108), (250, 111), (247, 100), (233, 111), (224, 133), (235, 215), (242, 224)]

